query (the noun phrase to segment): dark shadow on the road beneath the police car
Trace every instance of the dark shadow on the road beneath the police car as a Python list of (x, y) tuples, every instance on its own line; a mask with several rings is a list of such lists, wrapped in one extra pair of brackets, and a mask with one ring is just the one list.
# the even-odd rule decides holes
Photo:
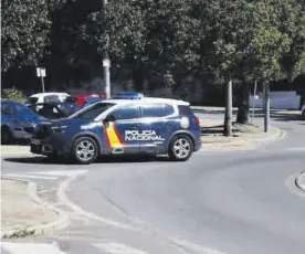
[[(6, 158), (4, 161), (15, 162), (15, 163), (31, 163), (31, 165), (71, 165), (77, 166), (81, 165), (74, 163), (69, 160), (51, 160), (46, 157), (13, 157)], [(94, 163), (135, 163), (135, 162), (159, 162), (159, 161), (168, 161), (171, 160), (166, 156), (107, 156), (98, 158)], [(84, 165), (86, 166), (86, 165)]]

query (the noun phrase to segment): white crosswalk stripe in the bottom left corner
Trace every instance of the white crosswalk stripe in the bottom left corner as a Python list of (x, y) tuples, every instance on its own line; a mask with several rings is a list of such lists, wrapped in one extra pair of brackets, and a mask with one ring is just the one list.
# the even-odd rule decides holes
[(10, 254), (65, 254), (56, 244), (1, 242), (1, 247)]

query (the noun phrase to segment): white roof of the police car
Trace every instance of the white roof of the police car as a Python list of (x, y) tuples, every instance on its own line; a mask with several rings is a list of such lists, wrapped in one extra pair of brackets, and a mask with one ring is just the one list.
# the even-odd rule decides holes
[(155, 98), (155, 97), (144, 97), (143, 99), (135, 100), (135, 99), (106, 99), (102, 100), (102, 103), (113, 103), (113, 104), (133, 104), (133, 103), (165, 103), (165, 104), (171, 104), (171, 105), (183, 105), (189, 106), (190, 103), (179, 99), (172, 99), (172, 98)]

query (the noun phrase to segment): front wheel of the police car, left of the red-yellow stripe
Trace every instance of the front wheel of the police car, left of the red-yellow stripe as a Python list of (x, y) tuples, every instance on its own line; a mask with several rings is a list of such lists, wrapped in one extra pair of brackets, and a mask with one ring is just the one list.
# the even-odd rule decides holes
[(98, 146), (91, 137), (80, 137), (74, 141), (72, 156), (73, 160), (81, 165), (90, 165), (98, 157)]

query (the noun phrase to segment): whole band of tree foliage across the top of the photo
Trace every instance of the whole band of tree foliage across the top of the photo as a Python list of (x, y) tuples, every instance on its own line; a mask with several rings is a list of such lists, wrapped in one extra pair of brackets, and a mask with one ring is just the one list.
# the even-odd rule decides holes
[(107, 51), (113, 70), (138, 83), (293, 80), (305, 70), (304, 9), (304, 0), (3, 0), (2, 71), (42, 61), (56, 78), (90, 77)]

